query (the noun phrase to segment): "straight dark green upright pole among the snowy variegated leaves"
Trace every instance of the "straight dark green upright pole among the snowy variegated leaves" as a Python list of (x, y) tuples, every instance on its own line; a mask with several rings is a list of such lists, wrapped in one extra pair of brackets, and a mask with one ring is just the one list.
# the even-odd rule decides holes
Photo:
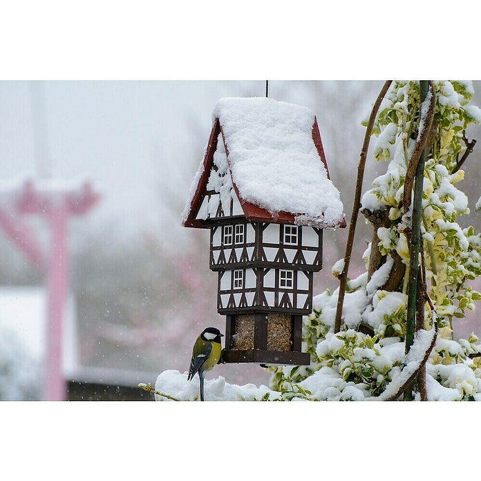
[[(428, 81), (419, 82), (421, 103), (428, 93)], [(414, 342), (417, 303), (417, 266), (419, 263), (419, 242), (421, 238), (421, 213), (422, 213), (422, 187), (424, 180), (424, 150), (417, 164), (414, 200), (413, 200), (413, 227), (411, 229), (411, 247), (409, 252), (409, 281), (408, 281), (408, 308), (406, 321), (406, 354)], [(410, 192), (411, 194), (411, 192)], [(411, 389), (406, 390), (404, 399), (412, 399)]]

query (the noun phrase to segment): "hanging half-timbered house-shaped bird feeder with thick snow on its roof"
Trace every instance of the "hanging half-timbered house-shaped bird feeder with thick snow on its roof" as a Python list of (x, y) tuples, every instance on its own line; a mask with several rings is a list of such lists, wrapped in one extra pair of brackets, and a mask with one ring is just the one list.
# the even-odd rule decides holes
[(182, 225), (210, 229), (225, 362), (310, 364), (302, 316), (323, 229), (345, 227), (314, 113), (265, 97), (220, 99)]

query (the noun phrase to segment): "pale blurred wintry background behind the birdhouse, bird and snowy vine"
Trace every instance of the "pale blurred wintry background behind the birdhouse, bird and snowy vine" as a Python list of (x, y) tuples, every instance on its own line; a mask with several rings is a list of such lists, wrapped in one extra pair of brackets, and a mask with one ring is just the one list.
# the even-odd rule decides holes
[[(383, 83), (269, 82), (270, 97), (317, 115), (348, 223), (361, 120)], [(481, 82), (473, 85), (473, 102), (481, 105)], [(36, 255), (48, 258), (55, 249), (55, 229), (41, 209), (13, 216), (12, 200), (25, 193), (26, 180), (54, 200), (85, 186), (95, 198), (65, 221), (62, 399), (150, 400), (139, 382), (154, 384), (167, 369), (188, 370), (200, 331), (225, 330), (216, 312), (217, 276), (209, 270), (209, 233), (183, 228), (180, 214), (216, 101), (263, 95), (264, 80), (0, 82), (0, 399), (47, 398), (46, 330), (55, 282)], [(479, 140), (480, 129), (471, 126), (469, 140)], [(460, 185), (471, 207), (460, 223), (478, 231), (480, 152), (475, 147)], [(386, 164), (369, 155), (363, 191), (385, 171)], [(314, 295), (337, 287), (330, 267), (343, 256), (346, 236), (347, 229), (325, 233)], [(359, 218), (351, 278), (364, 272), (361, 255), (370, 236)], [(471, 330), (480, 331), (475, 315), (455, 323), (456, 337)], [(217, 366), (210, 377), (218, 375), (234, 384), (270, 378), (260, 366), (242, 364)]]

